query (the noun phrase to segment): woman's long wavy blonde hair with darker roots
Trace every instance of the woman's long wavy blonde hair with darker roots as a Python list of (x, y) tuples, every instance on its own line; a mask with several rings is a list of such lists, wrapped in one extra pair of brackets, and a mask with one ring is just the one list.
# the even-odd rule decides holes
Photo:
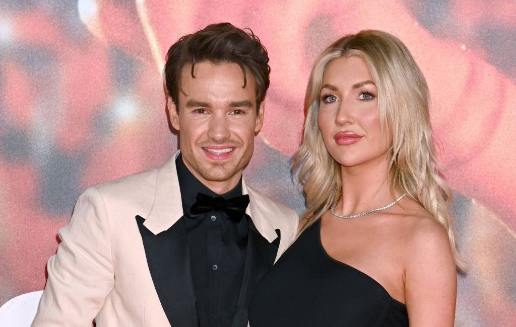
[(405, 193), (446, 229), (455, 263), (464, 270), (449, 214), (451, 191), (440, 173), (432, 141), (425, 77), (407, 47), (396, 37), (378, 30), (363, 30), (338, 39), (322, 52), (310, 75), (303, 143), (293, 159), (293, 171), (299, 176), (307, 204), (300, 232), (329, 210), (342, 191), (341, 167), (326, 149), (317, 114), (322, 77), (328, 64), (336, 58), (351, 56), (364, 60), (378, 90), (381, 130), (388, 131), (392, 138), (388, 176), (392, 194), (395, 190)]

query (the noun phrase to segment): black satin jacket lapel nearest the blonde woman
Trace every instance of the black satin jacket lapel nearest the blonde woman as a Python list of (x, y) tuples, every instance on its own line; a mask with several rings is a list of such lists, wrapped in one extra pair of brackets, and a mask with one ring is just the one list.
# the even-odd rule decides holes
[(269, 243), (249, 218), (246, 265), (232, 327), (247, 327), (249, 320), (248, 308), (253, 290), (267, 270), (272, 267), (278, 253), (281, 237), (280, 230), (277, 229), (276, 233), (278, 237), (272, 243)]

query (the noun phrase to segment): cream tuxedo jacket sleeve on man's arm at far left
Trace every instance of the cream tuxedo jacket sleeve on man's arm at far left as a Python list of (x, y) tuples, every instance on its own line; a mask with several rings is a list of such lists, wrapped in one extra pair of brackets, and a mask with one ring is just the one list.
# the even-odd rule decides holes
[(79, 197), (59, 237), (31, 326), (91, 326), (115, 282), (108, 217), (96, 188)]

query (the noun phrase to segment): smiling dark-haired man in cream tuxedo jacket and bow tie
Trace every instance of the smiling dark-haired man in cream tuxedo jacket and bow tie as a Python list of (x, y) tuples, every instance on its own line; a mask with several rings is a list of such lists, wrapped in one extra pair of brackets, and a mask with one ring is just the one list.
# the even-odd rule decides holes
[(33, 326), (247, 326), (252, 290), (298, 217), (248, 187), (268, 56), (229, 23), (182, 37), (165, 76), (180, 151), (79, 197)]

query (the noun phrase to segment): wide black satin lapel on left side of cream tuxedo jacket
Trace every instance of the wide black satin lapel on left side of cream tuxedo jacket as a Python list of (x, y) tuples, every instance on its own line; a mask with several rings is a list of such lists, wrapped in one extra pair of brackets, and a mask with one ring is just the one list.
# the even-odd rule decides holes
[(199, 326), (184, 220), (154, 235), (136, 216), (147, 264), (159, 301), (173, 327)]

